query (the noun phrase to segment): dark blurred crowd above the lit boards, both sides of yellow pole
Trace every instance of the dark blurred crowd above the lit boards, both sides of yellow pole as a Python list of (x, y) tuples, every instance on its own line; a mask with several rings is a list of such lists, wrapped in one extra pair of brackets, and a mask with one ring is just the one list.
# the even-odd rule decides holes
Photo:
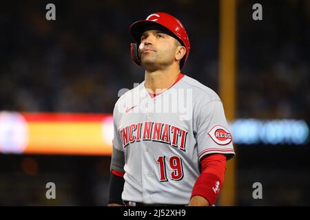
[[(18, 2), (18, 3), (17, 3)], [(183, 22), (192, 44), (183, 73), (218, 91), (218, 2), (10, 1), (0, 17), (0, 109), (112, 112), (122, 88), (144, 80), (130, 60), (130, 24), (156, 11)], [(308, 118), (310, 3), (238, 1), (237, 116)], [(142, 7), (143, 6), (143, 7)]]

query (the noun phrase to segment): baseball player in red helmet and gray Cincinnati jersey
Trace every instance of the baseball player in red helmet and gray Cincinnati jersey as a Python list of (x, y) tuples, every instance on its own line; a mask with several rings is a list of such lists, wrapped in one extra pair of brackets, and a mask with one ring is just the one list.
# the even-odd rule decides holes
[(156, 12), (130, 26), (145, 80), (115, 104), (109, 206), (212, 206), (234, 156), (218, 95), (180, 72), (187, 32)]

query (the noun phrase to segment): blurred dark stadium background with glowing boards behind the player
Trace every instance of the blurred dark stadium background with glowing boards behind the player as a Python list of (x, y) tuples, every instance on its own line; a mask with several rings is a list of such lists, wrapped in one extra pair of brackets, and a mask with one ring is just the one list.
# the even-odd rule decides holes
[[(3, 2), (0, 205), (105, 206), (112, 109), (120, 89), (144, 78), (129, 25), (157, 11), (178, 17), (192, 44), (183, 73), (218, 92), (219, 2)], [(56, 21), (45, 19), (48, 3)], [(233, 205), (309, 206), (310, 1), (236, 3)], [(56, 199), (45, 197), (50, 181)]]

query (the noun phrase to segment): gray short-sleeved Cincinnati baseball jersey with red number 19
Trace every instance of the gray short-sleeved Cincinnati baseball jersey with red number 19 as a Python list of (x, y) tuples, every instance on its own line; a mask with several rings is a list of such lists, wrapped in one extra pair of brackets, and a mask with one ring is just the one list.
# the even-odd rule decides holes
[(143, 81), (118, 99), (113, 116), (111, 168), (125, 172), (123, 200), (187, 204), (200, 159), (234, 155), (220, 98), (189, 76), (155, 98)]

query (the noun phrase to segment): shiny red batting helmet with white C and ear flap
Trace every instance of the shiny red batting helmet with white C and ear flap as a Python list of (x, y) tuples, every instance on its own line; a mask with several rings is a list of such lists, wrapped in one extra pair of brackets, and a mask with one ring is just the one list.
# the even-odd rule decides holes
[(140, 57), (138, 56), (138, 44), (140, 44), (140, 37), (147, 27), (154, 24), (159, 25), (161, 28), (165, 28), (165, 30), (171, 32), (174, 38), (186, 47), (186, 54), (180, 61), (181, 69), (186, 63), (187, 56), (191, 48), (189, 45), (187, 32), (178, 19), (164, 12), (149, 14), (145, 20), (136, 21), (130, 25), (130, 34), (132, 34), (134, 40), (136, 41), (136, 43), (131, 44), (132, 61), (134, 61), (136, 65), (141, 65)]

